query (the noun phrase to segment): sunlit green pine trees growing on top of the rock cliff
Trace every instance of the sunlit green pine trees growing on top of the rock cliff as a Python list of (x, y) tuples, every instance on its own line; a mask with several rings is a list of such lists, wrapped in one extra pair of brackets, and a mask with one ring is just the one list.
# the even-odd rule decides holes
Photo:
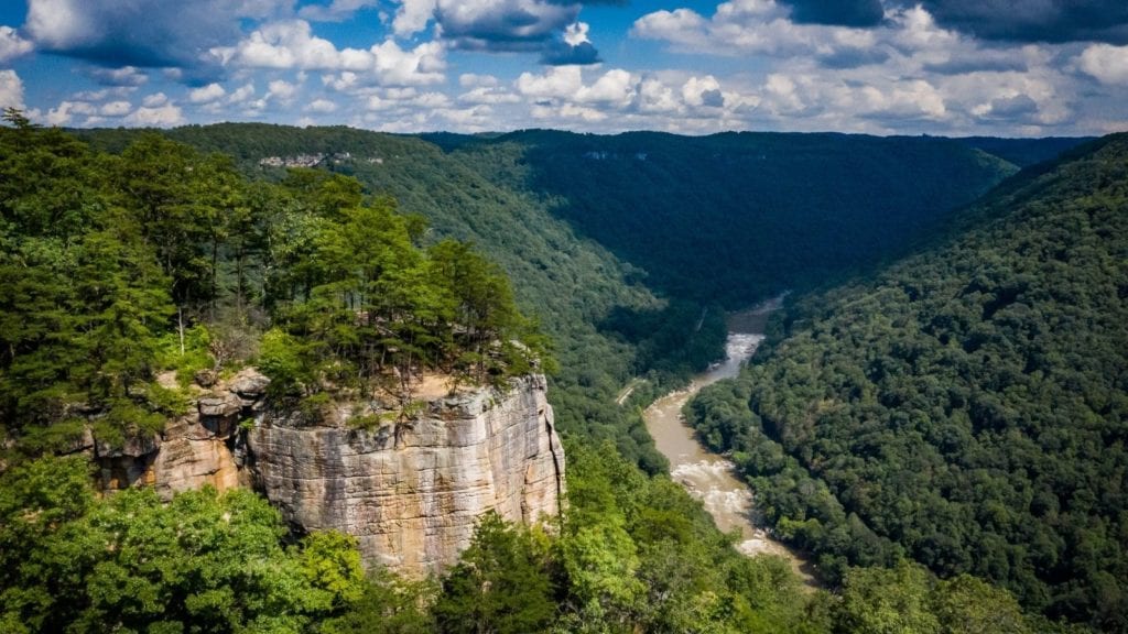
[[(422, 247), (425, 221), (353, 178), (252, 183), (229, 158), (156, 134), (111, 156), (9, 117), (6, 451), (63, 449), (91, 419), (111, 444), (151, 434), (186, 406), (182, 388), (248, 361), (316, 414), (335, 398), (400, 397), (423, 370), (486, 382), (544, 359), (495, 264), (464, 243)], [(158, 382), (162, 371), (176, 380)]]

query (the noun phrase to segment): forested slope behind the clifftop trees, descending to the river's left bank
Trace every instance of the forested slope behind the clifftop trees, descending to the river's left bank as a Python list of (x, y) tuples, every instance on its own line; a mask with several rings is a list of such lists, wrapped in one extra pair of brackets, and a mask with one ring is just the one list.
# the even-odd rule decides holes
[[(91, 142), (115, 152), (136, 135), (108, 130), (88, 134)], [(615, 394), (632, 376), (658, 363), (636, 359), (642, 342), (627, 342), (600, 324), (613, 314), (663, 314), (663, 328), (645, 337), (656, 337), (666, 356), (675, 358), (694, 347), (690, 341), (697, 342), (700, 352), (695, 359), (667, 363), (673, 373), (685, 373), (687, 366), (704, 366), (719, 354), (724, 338), (720, 312), (691, 336), (700, 316), (696, 305), (679, 302), (664, 311), (668, 302), (642, 283), (640, 271), (578, 236), (537, 196), (500, 187), (416, 138), (258, 124), (192, 126), (167, 134), (205, 151), (231, 155), (244, 173), (267, 180), (284, 179), (287, 170), (261, 166), (263, 158), (349, 152), (350, 158), (331, 159), (323, 167), (356, 178), (369, 194), (394, 196), (405, 213), (425, 217), (430, 230), (424, 243), (444, 237), (468, 240), (508, 273), (518, 305), (541, 323), (555, 344), (561, 371), (553, 377), (549, 397), (557, 406), (561, 430), (613, 440), (631, 460), (655, 473), (663, 468), (634, 410), (614, 405)], [(662, 377), (653, 378), (656, 381), (649, 385), (661, 384)], [(645, 391), (640, 391), (640, 399)]]

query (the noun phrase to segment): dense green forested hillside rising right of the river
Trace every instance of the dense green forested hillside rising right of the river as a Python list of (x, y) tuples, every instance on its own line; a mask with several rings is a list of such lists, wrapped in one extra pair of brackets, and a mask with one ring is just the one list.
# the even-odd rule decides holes
[(1128, 135), (775, 327), (689, 420), (778, 535), (838, 574), (905, 554), (1128, 631)]

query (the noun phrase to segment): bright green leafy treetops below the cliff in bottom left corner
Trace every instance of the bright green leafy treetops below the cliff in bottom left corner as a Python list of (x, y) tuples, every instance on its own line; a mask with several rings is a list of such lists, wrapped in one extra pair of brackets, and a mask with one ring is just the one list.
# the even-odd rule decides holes
[(365, 592), (352, 537), (287, 548), (277, 511), (250, 492), (95, 500), (87, 469), (42, 458), (0, 476), (6, 632), (305, 632)]

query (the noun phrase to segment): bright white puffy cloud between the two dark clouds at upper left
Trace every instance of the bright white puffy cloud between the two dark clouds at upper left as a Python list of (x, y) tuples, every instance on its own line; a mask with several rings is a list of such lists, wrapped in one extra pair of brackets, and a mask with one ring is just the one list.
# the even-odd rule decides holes
[[(368, 50), (337, 49), (317, 37), (305, 20), (283, 20), (262, 26), (235, 46), (211, 50), (223, 65), (252, 69), (341, 71), (341, 89), (362, 74), (389, 85), (435, 83), (444, 79), (444, 49), (426, 42), (405, 50), (393, 39)], [(343, 73), (352, 73), (345, 77)], [(351, 79), (349, 79), (351, 78)]]

